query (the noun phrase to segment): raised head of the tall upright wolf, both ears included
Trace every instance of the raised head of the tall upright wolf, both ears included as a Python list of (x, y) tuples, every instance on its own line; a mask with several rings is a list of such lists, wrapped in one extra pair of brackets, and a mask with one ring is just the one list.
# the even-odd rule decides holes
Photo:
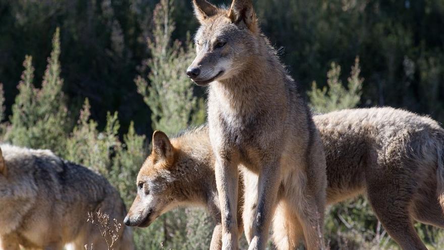
[(235, 77), (254, 61), (260, 31), (252, 0), (234, 0), (230, 9), (193, 0), (201, 26), (196, 33), (197, 56), (187, 75), (198, 85)]

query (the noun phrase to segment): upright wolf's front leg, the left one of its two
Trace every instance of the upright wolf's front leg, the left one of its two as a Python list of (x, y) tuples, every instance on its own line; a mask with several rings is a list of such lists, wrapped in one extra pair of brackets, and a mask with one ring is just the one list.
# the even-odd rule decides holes
[(216, 158), (215, 173), (222, 219), (222, 249), (236, 250), (238, 249), (238, 166), (230, 159)]

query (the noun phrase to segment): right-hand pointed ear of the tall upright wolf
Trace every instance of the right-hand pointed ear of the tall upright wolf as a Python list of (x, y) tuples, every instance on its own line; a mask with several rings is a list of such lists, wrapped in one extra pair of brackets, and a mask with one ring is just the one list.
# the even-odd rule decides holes
[(252, 32), (257, 31), (257, 18), (252, 0), (233, 0), (228, 17), (235, 24), (243, 22)]

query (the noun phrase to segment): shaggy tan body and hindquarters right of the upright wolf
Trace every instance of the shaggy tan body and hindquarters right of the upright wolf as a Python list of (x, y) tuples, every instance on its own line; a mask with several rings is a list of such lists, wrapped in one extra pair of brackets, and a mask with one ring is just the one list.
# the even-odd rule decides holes
[(359, 193), (403, 249), (426, 249), (412, 221), (444, 227), (444, 130), (392, 108), (315, 116), (327, 160), (327, 203)]

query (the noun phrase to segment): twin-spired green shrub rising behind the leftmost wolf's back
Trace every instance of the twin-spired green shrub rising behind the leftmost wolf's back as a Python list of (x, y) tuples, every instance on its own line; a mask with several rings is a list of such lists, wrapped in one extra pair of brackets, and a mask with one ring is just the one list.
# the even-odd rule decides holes
[(11, 127), (6, 134), (7, 141), (20, 146), (49, 148), (63, 155), (71, 124), (62, 91), (59, 56), (60, 31), (57, 29), (40, 89), (33, 85), (32, 57), (26, 56), (19, 94), (12, 108)]

